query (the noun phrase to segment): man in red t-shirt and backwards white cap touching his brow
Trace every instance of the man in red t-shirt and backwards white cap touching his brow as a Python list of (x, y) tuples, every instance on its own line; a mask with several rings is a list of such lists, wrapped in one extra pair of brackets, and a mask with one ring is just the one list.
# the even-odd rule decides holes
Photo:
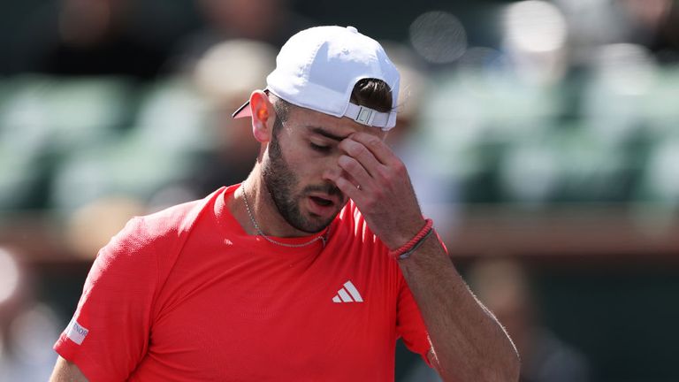
[(52, 380), (387, 381), (401, 336), (445, 380), (515, 381), (383, 141), (398, 88), (354, 27), (295, 34), (234, 113), (261, 142), (248, 179), (102, 249)]

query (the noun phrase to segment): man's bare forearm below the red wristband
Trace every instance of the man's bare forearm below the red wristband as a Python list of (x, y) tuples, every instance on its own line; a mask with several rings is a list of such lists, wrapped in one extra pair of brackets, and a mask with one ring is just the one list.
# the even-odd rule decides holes
[(435, 235), (399, 263), (444, 380), (518, 380), (518, 355), (507, 332), (469, 291)]

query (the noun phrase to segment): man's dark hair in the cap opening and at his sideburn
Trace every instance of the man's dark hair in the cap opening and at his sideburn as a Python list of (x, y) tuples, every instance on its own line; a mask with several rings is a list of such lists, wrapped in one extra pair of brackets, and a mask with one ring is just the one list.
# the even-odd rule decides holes
[[(392, 89), (383, 80), (362, 79), (358, 80), (351, 92), (352, 103), (369, 107), (376, 111), (392, 111)], [(273, 123), (273, 134), (277, 135), (278, 130), (287, 121), (290, 111), (296, 106), (286, 100), (276, 97), (273, 103), (273, 110), (276, 111), (276, 120)]]

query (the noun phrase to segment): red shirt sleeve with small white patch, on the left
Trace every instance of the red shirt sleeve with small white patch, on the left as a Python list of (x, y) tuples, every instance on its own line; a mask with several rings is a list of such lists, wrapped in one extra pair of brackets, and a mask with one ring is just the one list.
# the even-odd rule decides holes
[(153, 243), (134, 218), (99, 251), (54, 349), (91, 381), (126, 380), (146, 354), (157, 285)]

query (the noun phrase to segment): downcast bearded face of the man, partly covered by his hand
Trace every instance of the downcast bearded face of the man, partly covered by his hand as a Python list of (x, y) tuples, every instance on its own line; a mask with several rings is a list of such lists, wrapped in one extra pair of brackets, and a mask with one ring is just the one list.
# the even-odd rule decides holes
[(263, 179), (289, 225), (320, 232), (347, 203), (347, 196), (327, 176), (341, 171), (337, 160), (344, 153), (338, 145), (356, 132), (385, 137), (377, 127), (298, 107), (274, 132), (263, 159)]

